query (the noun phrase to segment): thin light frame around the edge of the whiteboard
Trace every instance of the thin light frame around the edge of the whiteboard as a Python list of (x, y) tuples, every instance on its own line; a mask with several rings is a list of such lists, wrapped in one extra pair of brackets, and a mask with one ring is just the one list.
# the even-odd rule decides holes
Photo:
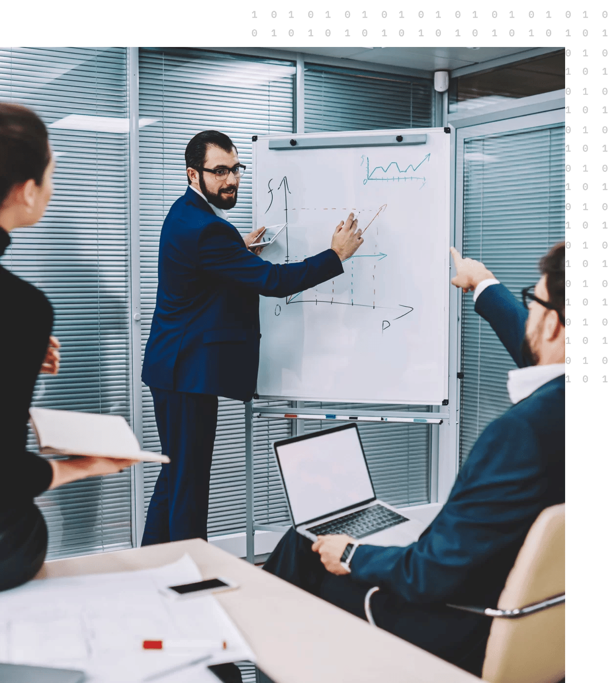
[[(257, 222), (256, 222), (256, 217), (258, 214), (258, 196), (255, 191), (256, 187), (256, 169), (257, 169), (257, 141), (262, 141), (262, 140), (287, 140), (290, 138), (301, 140), (301, 139), (346, 139), (346, 138), (360, 138), (361, 142), (360, 144), (357, 144), (356, 146), (362, 146), (364, 145), (364, 139), (365, 138), (372, 138), (372, 137), (381, 137), (383, 140), (385, 140), (382, 143), (382, 146), (390, 146), (390, 139), (392, 137), (396, 137), (396, 135), (428, 135), (428, 133), (441, 133), (443, 130), (442, 126), (438, 127), (431, 127), (431, 128), (384, 128), (384, 129), (377, 129), (377, 130), (335, 130), (335, 131), (329, 131), (327, 133), (276, 133), (275, 135), (253, 135), (252, 136), (252, 229), (255, 230), (257, 229)], [(449, 235), (449, 243), (450, 245), (454, 244), (454, 204), (452, 203), (452, 193), (454, 192), (454, 159), (455, 155), (453, 153), (454, 150), (454, 137), (452, 135), (453, 131), (450, 130), (450, 178), (448, 180), (448, 188), (445, 193), (445, 205), (448, 208), (448, 214), (450, 216), (449, 218), (449, 225), (450, 225), (450, 235)], [(398, 145), (405, 146), (405, 145), (412, 145), (415, 143), (412, 142), (400, 142)], [(341, 145), (340, 145), (341, 146)], [(354, 146), (354, 145), (342, 145), (343, 147), (349, 147), (349, 146)], [(375, 146), (375, 145), (374, 145)], [(294, 148), (286, 148), (286, 151), (288, 154), (292, 154)], [(296, 149), (306, 149), (306, 148), (301, 148), (299, 145), (296, 146)], [(316, 149), (310, 147), (310, 149)], [(277, 151), (277, 150), (276, 150)], [(451, 285), (450, 285), (451, 286)], [(451, 297), (450, 297), (450, 288), (448, 288), (446, 294), (445, 294), (445, 307), (447, 307), (449, 313), (450, 313), (450, 305), (451, 305)], [(450, 339), (450, 334), (452, 330), (452, 317), (448, 317), (448, 338)], [(456, 333), (455, 333), (456, 335)], [(276, 394), (260, 394), (257, 393), (254, 395), (254, 398), (261, 399), (261, 400), (267, 400), (267, 401), (313, 401), (313, 402), (321, 402), (321, 403), (362, 403), (362, 404), (379, 404), (379, 405), (386, 405), (386, 404), (394, 404), (396, 406), (433, 406), (433, 407), (439, 407), (439, 406), (445, 406), (444, 410), (447, 409), (449, 403), (450, 403), (450, 389), (451, 387), (451, 382), (450, 382), (450, 350), (454, 348), (452, 347), (451, 344), (448, 344), (448, 346), (445, 348), (445, 359), (443, 361), (443, 367), (448, 367), (448, 389), (447, 393), (448, 396), (444, 397), (441, 403), (424, 403), (424, 402), (418, 402), (418, 401), (413, 401), (413, 402), (404, 402), (404, 401), (396, 401), (396, 400), (356, 400), (355, 398), (306, 398), (306, 397), (298, 397), (298, 396), (280, 396)], [(456, 371), (454, 372), (454, 376), (456, 376)], [(445, 384), (445, 382), (444, 382)], [(452, 413), (450, 413), (452, 415)]]

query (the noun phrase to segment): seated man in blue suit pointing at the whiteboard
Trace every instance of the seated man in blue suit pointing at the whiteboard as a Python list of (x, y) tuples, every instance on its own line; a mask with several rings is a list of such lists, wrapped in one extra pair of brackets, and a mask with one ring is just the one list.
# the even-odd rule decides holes
[[(291, 530), (265, 570), (362, 618), (367, 591), (379, 586), (371, 603), (378, 626), (480, 675), (491, 620), (446, 605), (496, 607), (529, 527), (565, 501), (565, 247), (542, 258), (524, 307), (483, 264), (451, 251), (452, 283), (474, 292), (476, 311), (518, 365), (508, 379), (512, 407), (482, 432), (415, 543), (329, 535), (311, 544)], [(348, 572), (340, 559), (351, 550)]]

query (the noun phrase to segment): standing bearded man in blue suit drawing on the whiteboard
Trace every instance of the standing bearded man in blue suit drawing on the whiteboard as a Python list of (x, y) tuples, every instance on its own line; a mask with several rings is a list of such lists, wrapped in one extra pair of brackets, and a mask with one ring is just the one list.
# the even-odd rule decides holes
[(143, 545), (207, 539), (218, 396), (249, 401), (254, 395), (259, 295), (288, 296), (340, 275), (342, 262), (363, 242), (349, 214), (330, 249), (301, 263), (263, 261), (248, 249), (261, 230), (244, 239), (226, 220), (244, 169), (227, 135), (195, 135), (186, 147), (188, 189), (162, 225), (142, 377), (171, 462), (162, 465), (153, 490)]

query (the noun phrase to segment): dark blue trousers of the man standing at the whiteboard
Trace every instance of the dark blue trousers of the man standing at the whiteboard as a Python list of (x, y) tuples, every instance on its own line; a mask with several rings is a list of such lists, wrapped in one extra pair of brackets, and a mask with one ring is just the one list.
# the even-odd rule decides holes
[(153, 489), (141, 545), (207, 540), (209, 479), (218, 397), (151, 387), (163, 464)]

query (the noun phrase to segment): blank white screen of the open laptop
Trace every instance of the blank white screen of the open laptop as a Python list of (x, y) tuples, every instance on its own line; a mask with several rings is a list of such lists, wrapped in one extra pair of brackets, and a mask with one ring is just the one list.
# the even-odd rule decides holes
[(295, 526), (375, 499), (355, 425), (275, 444)]

